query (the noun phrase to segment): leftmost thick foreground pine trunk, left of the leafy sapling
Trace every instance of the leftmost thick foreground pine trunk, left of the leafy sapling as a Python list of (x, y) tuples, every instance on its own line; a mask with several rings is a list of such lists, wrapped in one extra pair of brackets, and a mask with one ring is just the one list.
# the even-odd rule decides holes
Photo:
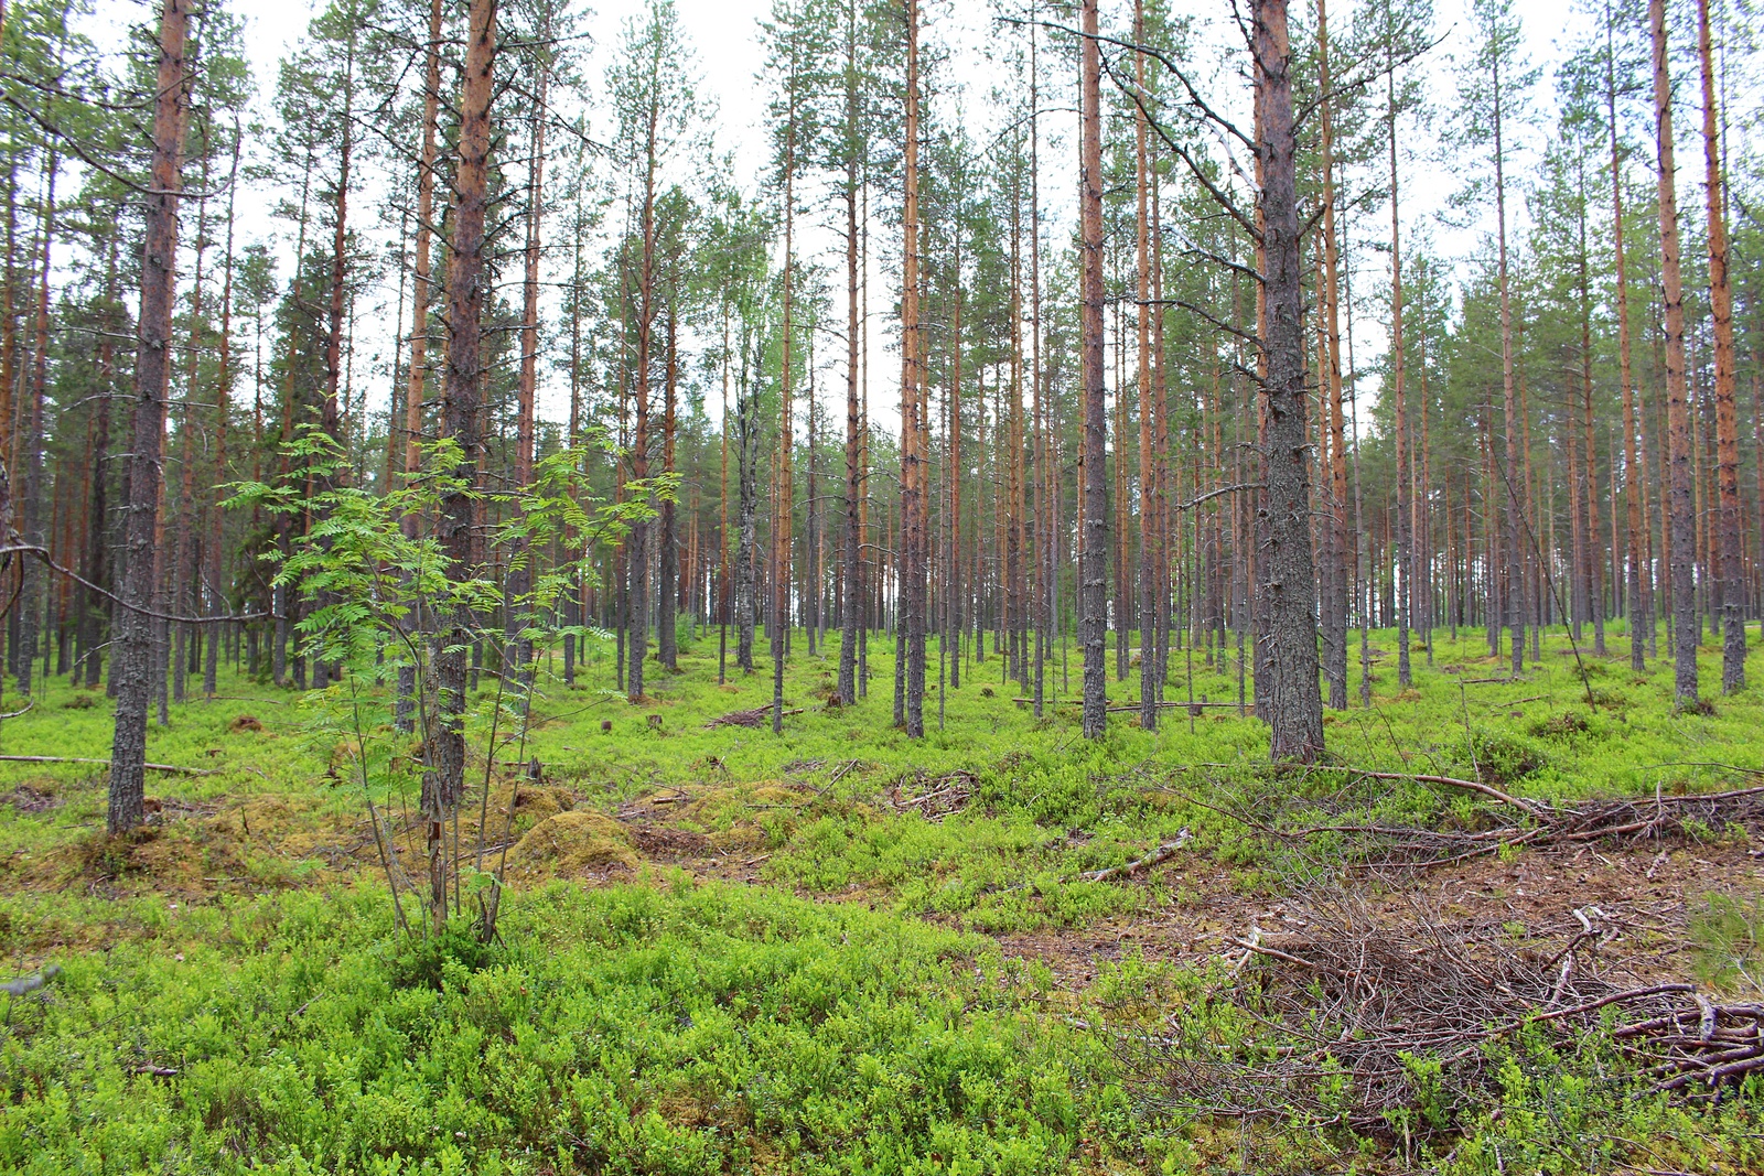
[(159, 21), (159, 65), (153, 102), (152, 196), (146, 197), (141, 243), (139, 351), (134, 363), (134, 421), (125, 501), (125, 571), (118, 582), (116, 730), (111, 742), (111, 836), (136, 829), (143, 816), (146, 703), (152, 691), (153, 605), (157, 585), (159, 469), (166, 434), (166, 388), (171, 358), (171, 298), (178, 254), (178, 187), (187, 85), (183, 72), (187, 0), (166, 0)]

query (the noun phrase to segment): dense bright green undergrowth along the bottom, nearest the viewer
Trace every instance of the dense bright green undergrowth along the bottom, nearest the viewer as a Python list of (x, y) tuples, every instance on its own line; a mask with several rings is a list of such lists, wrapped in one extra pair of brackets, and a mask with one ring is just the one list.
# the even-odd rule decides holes
[[(0, 899), (5, 924), (102, 917)], [(1378, 1130), (1217, 1120), (1182, 1040), (1256, 1051), (1226, 977), (1129, 956), (1085, 994), (986, 936), (683, 875), (552, 885), (503, 938), (393, 933), (370, 889), (109, 903), (0, 1030), (5, 1172), (1584, 1172), (1764, 1162), (1753, 1098), (1639, 1095), (1598, 1040), (1418, 1063)], [(1150, 1060), (1150, 1063), (1148, 1063)], [(1185, 1065), (1192, 1065), (1185, 1063)], [(1351, 1100), (1351, 1077), (1334, 1091)], [(1450, 1107), (1450, 1109), (1446, 1109)]]

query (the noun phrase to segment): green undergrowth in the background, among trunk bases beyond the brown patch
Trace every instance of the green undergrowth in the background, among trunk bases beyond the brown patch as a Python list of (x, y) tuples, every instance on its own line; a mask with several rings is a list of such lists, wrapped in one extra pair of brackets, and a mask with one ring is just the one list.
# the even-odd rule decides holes
[[(487, 774), (492, 793), (506, 795), (496, 790), (510, 786), (512, 765), (529, 760), (557, 790), (554, 809), (616, 815), (646, 797), (684, 793), (691, 804), (658, 820), (702, 837), (704, 855), (753, 862), (762, 882), (808, 894), (857, 892), (898, 913), (991, 933), (1074, 927), (1155, 908), (1168, 899), (1155, 878), (1150, 890), (1124, 890), (1083, 875), (1134, 860), (1182, 830), (1235, 871), (1238, 887), (1254, 887), (1272, 846), (1245, 815), (1314, 802), (1335, 818), (1351, 811), (1383, 823), (1475, 827), (1478, 820), (1469, 797), (1438, 786), (1360, 781), (1344, 793), (1353, 776), (1342, 770), (1268, 774), (1265, 726), (1219, 705), (1235, 702), (1235, 647), (1215, 658), (1205, 649), (1171, 658), (1168, 698), (1210, 705), (1164, 709), (1155, 732), (1140, 730), (1134, 712), (1115, 712), (1097, 742), (1080, 737), (1073, 698), (1060, 693), (1076, 682), (1076, 665), (1048, 666), (1037, 719), (1016, 684), (1004, 681), (1005, 661), (988, 652), (965, 663), (960, 689), (938, 698), (933, 684), (928, 733), (914, 741), (891, 723), (893, 661), (882, 636), (870, 642), (868, 696), (838, 707), (829, 702), (836, 640), (808, 654), (797, 633), (785, 689), (796, 712), (781, 735), (769, 723), (707, 728), (769, 703), (771, 675), (766, 663), (753, 675), (730, 665), (718, 684), (716, 633), (686, 636), (681, 672), (656, 668), (651, 696), (639, 705), (612, 689), (609, 649), (589, 651), (573, 688), (556, 677), (556, 651), (547, 654), (526, 739), (510, 741), (506, 726), (497, 732), (499, 770)], [(1544, 656), (1528, 661), (1519, 681), (1505, 661), (1487, 658), (1480, 631), (1466, 629), (1459, 642), (1443, 631), (1438, 638), (1431, 659), (1416, 645), (1415, 684), (1399, 691), (1394, 635), (1371, 635), (1374, 705), (1327, 712), (1334, 765), (1473, 778), (1558, 800), (1690, 792), (1764, 769), (1764, 741), (1753, 737), (1764, 721), (1759, 686), (1716, 698), (1709, 716), (1679, 716), (1671, 705), (1671, 665), (1653, 661), (1648, 674), (1632, 674), (1621, 624), (1612, 626), (1603, 659), (1588, 642), (1575, 647), (1561, 629), (1551, 631)], [(1704, 651), (1704, 663), (1706, 679), (1716, 681), (1718, 652)], [(1759, 682), (1764, 659), (1753, 663)], [(1355, 665), (1355, 698), (1358, 674)], [(1132, 702), (1136, 679), (1134, 666), (1129, 681), (1110, 682), (1115, 705)], [(104, 767), (0, 765), (0, 878), (198, 899), (333, 885), (374, 869), (349, 689), (300, 696), (228, 675), (219, 698), (175, 705), (169, 725), (150, 728), (148, 756), (203, 774), (152, 774), (150, 795), (164, 811), (150, 845), (123, 853), (99, 845)], [(487, 679), (480, 695), (492, 691)], [(407, 815), (416, 795), (415, 741), (390, 728), (372, 728), (367, 739), (369, 795), (390, 815)], [(487, 746), (489, 730), (471, 730), (469, 739)], [(28, 714), (0, 725), (0, 749), (104, 758), (109, 703), (102, 693), (58, 682)], [(483, 770), (475, 763), (467, 779), (480, 795)], [(916, 806), (951, 786), (947, 802)], [(483, 839), (496, 843), (505, 832), (519, 839), (542, 816), (522, 808), (515, 823), (487, 827)], [(1311, 848), (1332, 852), (1328, 839)], [(609, 845), (598, 857), (637, 855)]]

